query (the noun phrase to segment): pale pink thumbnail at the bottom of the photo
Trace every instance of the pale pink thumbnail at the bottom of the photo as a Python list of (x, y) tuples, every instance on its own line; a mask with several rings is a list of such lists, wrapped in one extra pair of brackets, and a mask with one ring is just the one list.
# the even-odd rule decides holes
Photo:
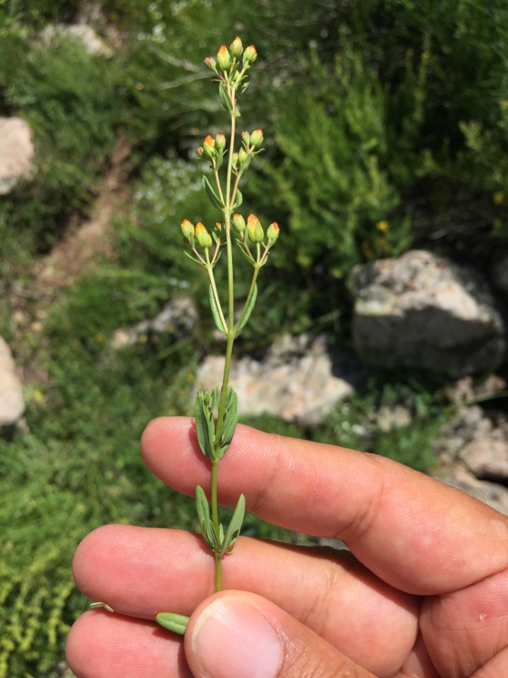
[(272, 678), (282, 661), (279, 636), (243, 600), (214, 600), (196, 622), (192, 648), (208, 678)]

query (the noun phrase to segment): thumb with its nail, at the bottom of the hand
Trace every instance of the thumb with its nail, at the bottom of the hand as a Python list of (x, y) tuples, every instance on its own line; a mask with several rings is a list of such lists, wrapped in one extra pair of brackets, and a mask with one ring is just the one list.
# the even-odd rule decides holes
[(202, 602), (185, 648), (196, 678), (375, 678), (270, 600), (245, 591)]

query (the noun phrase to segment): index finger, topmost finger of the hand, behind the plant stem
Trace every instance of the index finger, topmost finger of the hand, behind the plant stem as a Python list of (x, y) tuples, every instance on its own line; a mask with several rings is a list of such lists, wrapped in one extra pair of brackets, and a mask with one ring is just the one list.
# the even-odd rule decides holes
[[(141, 441), (148, 467), (184, 494), (210, 485), (193, 421), (160, 418)], [(508, 519), (397, 462), (238, 425), (219, 467), (219, 501), (301, 533), (342, 540), (408, 593), (457, 590), (508, 566)]]

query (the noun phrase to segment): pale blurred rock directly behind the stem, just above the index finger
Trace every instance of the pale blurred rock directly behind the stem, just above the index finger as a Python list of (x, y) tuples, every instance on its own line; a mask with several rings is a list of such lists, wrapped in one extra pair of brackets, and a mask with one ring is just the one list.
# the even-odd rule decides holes
[[(210, 356), (196, 376), (211, 391), (222, 383), (224, 357)], [(285, 335), (263, 360), (243, 357), (231, 365), (230, 383), (240, 415), (268, 413), (287, 422), (316, 426), (363, 379), (356, 360), (331, 355), (324, 338)]]

